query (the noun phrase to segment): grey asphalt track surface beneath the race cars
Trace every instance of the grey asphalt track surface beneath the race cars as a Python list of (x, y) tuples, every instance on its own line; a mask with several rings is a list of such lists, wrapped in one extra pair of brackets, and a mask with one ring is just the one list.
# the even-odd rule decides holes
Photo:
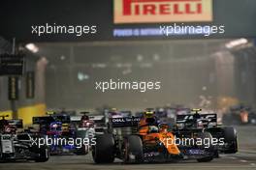
[(123, 164), (116, 159), (112, 164), (97, 165), (87, 156), (51, 156), (48, 162), (0, 163), (0, 170), (256, 170), (256, 127), (237, 127), (240, 152), (235, 155), (222, 155), (211, 162), (199, 163), (196, 160), (182, 160), (171, 163)]

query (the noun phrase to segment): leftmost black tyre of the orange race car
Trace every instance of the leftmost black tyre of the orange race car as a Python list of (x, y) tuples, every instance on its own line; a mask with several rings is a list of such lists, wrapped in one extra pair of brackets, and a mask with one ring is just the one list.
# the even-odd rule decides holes
[(95, 163), (112, 163), (114, 160), (114, 139), (106, 133), (96, 136), (96, 145), (92, 146), (92, 157)]

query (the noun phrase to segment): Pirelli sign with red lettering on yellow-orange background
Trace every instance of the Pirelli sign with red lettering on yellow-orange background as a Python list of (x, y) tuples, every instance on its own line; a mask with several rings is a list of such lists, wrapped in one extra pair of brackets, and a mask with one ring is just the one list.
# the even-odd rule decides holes
[(212, 21), (212, 0), (114, 0), (114, 23)]

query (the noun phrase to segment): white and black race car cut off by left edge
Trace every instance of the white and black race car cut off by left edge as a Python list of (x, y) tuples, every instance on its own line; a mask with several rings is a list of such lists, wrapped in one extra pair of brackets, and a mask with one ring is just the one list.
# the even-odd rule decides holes
[[(16, 128), (21, 128), (21, 120), (5, 120), (5, 130), (0, 133), (0, 161), (14, 161), (17, 159), (35, 160), (37, 162), (48, 161), (48, 147), (39, 146), (35, 141), (42, 138), (39, 135), (29, 133), (16, 133)], [(8, 123), (8, 124), (7, 124)]]

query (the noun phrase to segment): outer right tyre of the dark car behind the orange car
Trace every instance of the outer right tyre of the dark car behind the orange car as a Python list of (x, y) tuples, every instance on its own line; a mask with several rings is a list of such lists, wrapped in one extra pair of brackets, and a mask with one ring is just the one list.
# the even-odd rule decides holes
[(238, 152), (238, 137), (237, 130), (233, 127), (223, 128), (224, 140), (229, 144), (229, 149), (226, 150), (225, 154), (235, 154)]

